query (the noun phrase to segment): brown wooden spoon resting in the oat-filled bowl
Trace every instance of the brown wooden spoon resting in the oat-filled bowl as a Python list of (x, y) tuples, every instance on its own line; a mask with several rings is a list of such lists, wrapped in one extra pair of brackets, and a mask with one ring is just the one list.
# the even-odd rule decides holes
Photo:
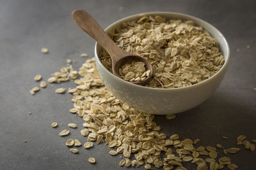
[[(125, 52), (119, 48), (115, 42), (109, 38), (108, 34), (100, 27), (93, 17), (84, 10), (74, 10), (72, 12), (72, 18), (76, 24), (83, 29), (89, 36), (95, 39), (99, 45), (101, 45), (110, 55), (112, 59), (112, 71), (113, 74), (120, 77), (119, 69), (126, 63), (132, 61), (141, 61), (145, 63), (146, 70), (150, 70), (150, 75), (142, 81), (129, 81), (136, 85), (145, 85), (152, 80), (153, 68), (150, 62), (139, 55)], [(121, 78), (121, 77), (120, 77)]]

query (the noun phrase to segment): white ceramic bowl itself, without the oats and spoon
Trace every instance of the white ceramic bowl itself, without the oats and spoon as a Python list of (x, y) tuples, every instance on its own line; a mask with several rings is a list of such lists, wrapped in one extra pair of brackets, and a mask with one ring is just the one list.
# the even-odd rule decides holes
[(180, 113), (203, 103), (218, 88), (227, 70), (230, 55), (227, 40), (224, 38), (221, 32), (218, 31), (218, 29), (208, 22), (190, 15), (172, 12), (148, 12), (131, 15), (109, 25), (105, 31), (111, 31), (114, 27), (120, 25), (122, 22), (136, 20), (141, 15), (162, 15), (166, 18), (193, 20), (196, 25), (202, 26), (211, 34), (212, 37), (216, 39), (216, 41), (218, 41), (220, 50), (225, 57), (225, 63), (221, 67), (220, 71), (211, 76), (211, 78), (189, 87), (180, 87), (177, 89), (156, 89), (143, 87), (122, 80), (109, 72), (99, 60), (99, 53), (102, 50), (102, 47), (96, 43), (96, 66), (106, 87), (114, 94), (114, 96), (120, 99), (120, 101), (123, 101), (132, 108), (155, 115)]

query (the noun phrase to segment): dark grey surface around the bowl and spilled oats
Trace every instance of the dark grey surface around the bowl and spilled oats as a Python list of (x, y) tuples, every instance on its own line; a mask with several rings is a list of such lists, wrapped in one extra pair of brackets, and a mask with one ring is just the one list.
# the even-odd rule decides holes
[[(156, 117), (168, 136), (200, 138), (200, 145), (236, 147), (236, 137), (256, 139), (256, 1), (0, 1), (0, 169), (124, 169), (120, 157), (111, 157), (108, 146), (90, 150), (79, 148), (74, 155), (65, 146), (68, 138), (87, 141), (80, 134), (83, 119), (68, 112), (70, 94), (55, 94), (58, 87), (76, 87), (72, 81), (48, 85), (35, 96), (29, 90), (39, 83), (36, 74), (47, 80), (51, 73), (75, 59), (78, 69), (84, 62), (79, 53), (93, 57), (95, 41), (71, 19), (71, 12), (82, 8), (102, 27), (122, 17), (146, 11), (175, 11), (202, 18), (217, 27), (230, 45), (230, 65), (224, 81), (205, 103), (168, 121)], [(122, 7), (123, 10), (119, 10)], [(250, 45), (250, 48), (246, 48)], [(49, 53), (40, 52), (42, 47)], [(236, 52), (237, 48), (240, 52)], [(29, 82), (29, 85), (27, 84)], [(31, 111), (31, 115), (28, 112)], [(56, 129), (52, 122), (58, 122)], [(61, 129), (74, 122), (77, 129), (60, 138)], [(62, 124), (62, 125), (61, 125)], [(227, 136), (228, 139), (222, 139)], [(26, 139), (28, 142), (24, 143)], [(256, 169), (256, 152), (244, 150), (228, 154), (239, 169)], [(88, 163), (95, 157), (97, 164)], [(195, 164), (184, 164), (196, 169)], [(139, 169), (144, 169), (140, 167)]]

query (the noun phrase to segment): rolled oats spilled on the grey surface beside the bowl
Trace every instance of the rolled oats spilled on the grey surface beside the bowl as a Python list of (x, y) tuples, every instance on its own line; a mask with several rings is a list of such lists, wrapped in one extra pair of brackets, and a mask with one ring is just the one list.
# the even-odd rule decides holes
[[(51, 83), (60, 83), (62, 78), (65, 81), (72, 78), (70, 72), (74, 70), (72, 66), (68, 68), (68, 71), (52, 74), (55, 81)], [(125, 167), (186, 169), (184, 162), (190, 162), (200, 170), (223, 167), (237, 169), (238, 166), (232, 163), (228, 155), (240, 152), (241, 148), (225, 148), (219, 143), (216, 147), (200, 146), (200, 139), (180, 139), (179, 134), (159, 132), (161, 127), (154, 122), (154, 115), (130, 108), (106, 89), (94, 58), (86, 60), (78, 74), (80, 77), (74, 80), (77, 87), (68, 89), (68, 93), (73, 95), (74, 103), (74, 108), (69, 111), (84, 120), (81, 135), (88, 140), (83, 143), (85, 149), (93, 148), (95, 143), (105, 143), (111, 148), (109, 155), (122, 155), (119, 165)], [(166, 115), (166, 119), (170, 121), (173, 118), (175, 115)], [(58, 123), (53, 122), (51, 127), (58, 129)], [(76, 129), (77, 125), (70, 123), (68, 127)], [(68, 129), (60, 131), (60, 136), (69, 135)], [(223, 139), (228, 138), (223, 136)], [(249, 141), (244, 135), (237, 137), (237, 146), (244, 145), (245, 149), (252, 152), (255, 151), (255, 142), (255, 139)], [(77, 154), (79, 150), (74, 147), (79, 147), (82, 143), (78, 139), (68, 139), (64, 145), (69, 147), (70, 152)], [(92, 164), (96, 162), (94, 158), (89, 158), (88, 161)]]

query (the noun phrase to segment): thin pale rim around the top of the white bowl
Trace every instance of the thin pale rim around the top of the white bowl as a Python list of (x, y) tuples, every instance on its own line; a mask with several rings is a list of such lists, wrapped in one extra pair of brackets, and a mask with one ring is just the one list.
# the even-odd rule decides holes
[[(145, 13), (137, 13), (134, 15), (129, 15), (127, 17), (124, 18), (120, 18), (119, 20), (116, 20), (115, 22), (113, 22), (112, 24), (108, 25), (108, 27), (106, 27), (104, 29), (104, 31), (106, 31), (107, 29), (109, 29), (109, 27), (113, 27), (114, 25), (118, 25), (121, 22), (124, 22), (124, 20), (128, 20), (129, 18), (133, 18), (133, 17), (140, 17), (143, 15), (180, 15), (180, 16), (184, 16), (184, 17), (189, 17), (192, 18), (191, 20), (195, 21), (198, 20), (200, 22), (205, 22), (205, 24), (208, 24), (210, 27), (212, 27), (212, 29), (215, 29), (218, 34), (220, 34), (221, 38), (223, 39), (223, 42), (225, 44), (224, 48), (227, 48), (227, 56), (225, 57), (225, 62), (223, 64), (223, 66), (221, 67), (221, 69), (216, 72), (214, 75), (212, 75), (210, 78), (207, 78), (207, 80), (201, 81), (200, 83), (196, 83), (194, 85), (190, 85), (187, 87), (177, 87), (177, 88), (172, 88), (172, 89), (160, 89), (160, 88), (154, 88), (154, 87), (146, 87), (146, 86), (141, 86), (141, 85), (136, 85), (133, 83), (130, 83), (129, 81), (125, 81), (122, 78), (118, 78), (117, 76), (115, 76), (113, 73), (111, 73), (108, 69), (106, 69), (106, 67), (103, 66), (102, 62), (100, 62), (98, 53), (97, 53), (97, 48), (98, 46), (100, 46), (97, 42), (95, 43), (95, 59), (97, 60), (97, 62), (99, 62), (100, 67), (103, 67), (104, 71), (106, 71), (106, 73), (111, 74), (111, 76), (113, 76), (113, 78), (115, 78), (117, 81), (121, 81), (122, 83), (125, 83), (127, 85), (131, 85), (134, 88), (139, 88), (141, 90), (153, 90), (153, 91), (157, 91), (157, 92), (163, 92), (163, 91), (179, 91), (179, 90), (188, 90), (188, 89), (194, 89), (197, 87), (200, 87), (202, 85), (204, 85), (205, 83), (209, 83), (210, 81), (213, 81), (222, 71), (225, 71), (225, 69), (228, 66), (228, 62), (230, 60), (230, 48), (227, 42), (227, 39), (225, 38), (225, 36), (223, 36), (223, 34), (216, 28), (214, 27), (212, 24), (209, 24), (209, 22), (206, 22), (205, 20), (202, 20), (200, 18), (194, 17), (192, 15), (188, 15), (188, 14), (184, 14), (184, 13), (177, 13), (177, 12), (170, 12), (170, 11), (151, 11), (151, 12), (145, 12)], [(203, 27), (204, 28), (204, 27)], [(207, 31), (208, 32), (208, 31)], [(211, 35), (211, 34), (210, 34)], [(214, 37), (213, 37), (214, 38)], [(214, 38), (215, 39), (215, 38)], [(221, 52), (222, 53), (222, 52)], [(223, 53), (222, 53), (223, 54)]]

